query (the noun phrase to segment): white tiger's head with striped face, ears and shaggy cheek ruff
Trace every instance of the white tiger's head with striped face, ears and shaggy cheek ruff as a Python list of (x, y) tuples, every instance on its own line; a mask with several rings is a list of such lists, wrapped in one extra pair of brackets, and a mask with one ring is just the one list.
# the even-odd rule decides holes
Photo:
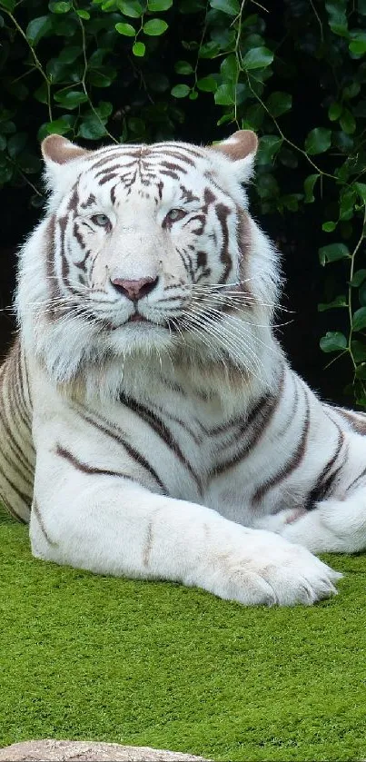
[(21, 252), (21, 331), (56, 381), (168, 351), (255, 366), (278, 278), (243, 183), (257, 138), (204, 148), (45, 138), (45, 220)]

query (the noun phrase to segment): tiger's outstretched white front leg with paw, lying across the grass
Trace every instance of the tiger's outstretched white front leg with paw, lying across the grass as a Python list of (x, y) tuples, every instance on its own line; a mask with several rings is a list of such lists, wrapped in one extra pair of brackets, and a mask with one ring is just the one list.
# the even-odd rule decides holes
[(128, 477), (37, 452), (35, 557), (140, 579), (171, 579), (243, 604), (311, 604), (341, 575), (306, 549)]

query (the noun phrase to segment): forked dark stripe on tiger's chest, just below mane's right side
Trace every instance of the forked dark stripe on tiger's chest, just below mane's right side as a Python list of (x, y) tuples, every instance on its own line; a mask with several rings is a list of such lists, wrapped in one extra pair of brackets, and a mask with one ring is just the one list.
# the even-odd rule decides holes
[[(255, 447), (255, 445), (265, 434), (282, 399), (284, 377), (285, 367), (283, 366), (281, 377), (278, 380), (277, 393), (271, 395), (263, 395), (260, 400), (255, 403), (252, 411), (250, 411), (245, 421), (239, 423), (239, 426), (236, 430), (235, 439), (240, 441), (241, 437), (245, 437), (246, 435), (242, 447), (239, 448), (239, 450), (235, 453), (235, 455), (232, 456), (232, 458), (224, 460), (222, 463), (218, 463), (214, 467), (212, 471), (213, 477), (219, 476), (224, 471), (230, 470), (234, 466), (237, 466), (238, 463), (240, 463), (250, 454), (253, 447)], [(213, 430), (210, 430), (210, 434), (214, 435), (223, 433), (226, 427), (231, 428), (232, 421), (228, 421), (228, 423), (223, 424), (223, 426), (215, 427)]]

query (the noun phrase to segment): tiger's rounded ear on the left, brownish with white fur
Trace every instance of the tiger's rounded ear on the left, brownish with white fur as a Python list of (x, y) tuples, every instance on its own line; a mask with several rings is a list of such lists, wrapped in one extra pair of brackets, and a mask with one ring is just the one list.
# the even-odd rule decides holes
[(48, 135), (45, 138), (41, 144), (41, 151), (45, 159), (46, 181), (51, 190), (55, 190), (60, 183), (64, 184), (65, 169), (74, 162), (74, 159), (81, 159), (89, 153), (62, 135), (56, 134)]

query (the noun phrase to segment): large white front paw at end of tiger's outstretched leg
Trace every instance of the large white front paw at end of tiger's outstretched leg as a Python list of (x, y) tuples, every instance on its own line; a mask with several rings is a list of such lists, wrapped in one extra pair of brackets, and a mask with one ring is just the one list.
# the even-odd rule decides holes
[(267, 531), (253, 531), (248, 539), (246, 547), (216, 555), (205, 589), (247, 606), (311, 606), (337, 593), (334, 583), (342, 575), (309, 550)]

